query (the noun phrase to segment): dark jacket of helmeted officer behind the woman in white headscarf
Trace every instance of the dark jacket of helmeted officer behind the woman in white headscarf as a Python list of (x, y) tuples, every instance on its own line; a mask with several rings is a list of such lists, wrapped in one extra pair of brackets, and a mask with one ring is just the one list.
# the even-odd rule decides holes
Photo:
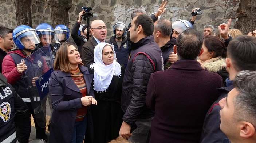
[(118, 49), (117, 42), (115, 41), (115, 36), (111, 36), (109, 43), (114, 45), (114, 50), (115, 54), (117, 55), (117, 62), (119, 64), (127, 65), (128, 62), (128, 56), (129, 56), (129, 51), (128, 51), (128, 41), (126, 37), (123, 37), (120, 49)]

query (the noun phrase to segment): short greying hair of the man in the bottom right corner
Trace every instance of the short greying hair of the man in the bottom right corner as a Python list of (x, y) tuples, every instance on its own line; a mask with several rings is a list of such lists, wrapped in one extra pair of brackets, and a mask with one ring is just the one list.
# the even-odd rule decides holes
[(239, 92), (233, 100), (236, 120), (248, 121), (256, 127), (256, 71), (238, 72), (233, 85)]

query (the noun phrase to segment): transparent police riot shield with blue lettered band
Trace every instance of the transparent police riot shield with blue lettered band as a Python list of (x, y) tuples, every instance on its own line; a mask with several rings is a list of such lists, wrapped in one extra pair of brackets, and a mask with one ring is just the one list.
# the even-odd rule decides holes
[[(27, 88), (31, 106), (34, 110), (36, 121), (39, 127), (46, 127), (46, 115), (44, 113), (48, 84), (53, 64), (50, 45), (46, 45), (33, 52), (24, 59), (27, 69), (23, 72), (24, 83)], [(44, 101), (44, 102), (43, 102)]]

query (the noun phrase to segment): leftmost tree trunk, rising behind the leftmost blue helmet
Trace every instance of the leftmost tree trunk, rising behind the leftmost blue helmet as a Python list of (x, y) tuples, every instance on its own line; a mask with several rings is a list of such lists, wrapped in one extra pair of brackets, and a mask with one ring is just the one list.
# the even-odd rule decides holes
[(28, 25), (32, 27), (31, 0), (14, 0), (16, 9), (17, 25)]

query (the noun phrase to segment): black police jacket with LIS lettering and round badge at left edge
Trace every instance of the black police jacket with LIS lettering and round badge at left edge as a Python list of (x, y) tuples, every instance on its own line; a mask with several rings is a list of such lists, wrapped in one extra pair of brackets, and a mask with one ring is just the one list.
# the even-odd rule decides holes
[[(0, 73), (0, 142), (8, 138), (15, 131), (15, 114), (24, 114), (27, 111), (27, 105), (15, 92), (14, 88), (7, 83), (7, 79)], [(16, 139), (7, 142), (16, 143)]]

